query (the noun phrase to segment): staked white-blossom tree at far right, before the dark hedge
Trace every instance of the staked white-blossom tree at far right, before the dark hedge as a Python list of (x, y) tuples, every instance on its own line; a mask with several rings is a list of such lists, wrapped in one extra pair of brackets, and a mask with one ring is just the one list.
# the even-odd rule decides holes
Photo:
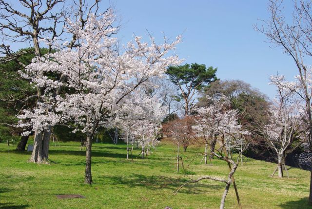
[(300, 128), (301, 105), (292, 88), (295, 83), (286, 82), (284, 76), (271, 76), (270, 84), (277, 87), (278, 94), (269, 108), (268, 123), (260, 127), (262, 126), (266, 144), (272, 148), (278, 159), (278, 165), (272, 176), (278, 170), (278, 177), (282, 178), (283, 168), (287, 171), (285, 165), (287, 154), (306, 141), (306, 134), (305, 130)]

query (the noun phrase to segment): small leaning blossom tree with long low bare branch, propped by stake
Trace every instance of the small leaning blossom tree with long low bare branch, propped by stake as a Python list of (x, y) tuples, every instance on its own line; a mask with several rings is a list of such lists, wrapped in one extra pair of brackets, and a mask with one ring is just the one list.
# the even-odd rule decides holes
[[(241, 157), (241, 152), (245, 149), (243, 148), (240, 153), (238, 153), (237, 160), (234, 161), (224, 149), (226, 148), (226, 140), (228, 137), (232, 139), (236, 139), (238, 136), (243, 137), (244, 135), (248, 135), (248, 131), (244, 131), (242, 126), (238, 124), (238, 110), (231, 110), (228, 107), (229, 100), (224, 96), (215, 96), (211, 98), (213, 102), (208, 107), (197, 107), (194, 109), (195, 112), (195, 124), (193, 126), (195, 138), (199, 141), (199, 138), (202, 139), (206, 146), (212, 148), (212, 138), (217, 137), (218, 141), (221, 145), (220, 149), (212, 148), (211, 154), (213, 154), (218, 159), (225, 161), (229, 167), (229, 174), (227, 178), (220, 178), (215, 176), (201, 176), (198, 179), (193, 179), (190, 182), (185, 183), (181, 187), (189, 184), (199, 182), (203, 179), (211, 179), (214, 181), (223, 182), (226, 184), (225, 190), (223, 192), (223, 196), (221, 198), (220, 209), (224, 208), (225, 198), (229, 191), (231, 184), (234, 185), (236, 198), (238, 201), (238, 205), (241, 208), (238, 191), (236, 188), (236, 184), (234, 181), (234, 172), (236, 171), (239, 159)], [(235, 140), (233, 140), (235, 141)], [(244, 147), (248, 145), (248, 142), (244, 143)], [(207, 155), (207, 153), (206, 153)], [(177, 188), (175, 192), (177, 192), (181, 187)]]

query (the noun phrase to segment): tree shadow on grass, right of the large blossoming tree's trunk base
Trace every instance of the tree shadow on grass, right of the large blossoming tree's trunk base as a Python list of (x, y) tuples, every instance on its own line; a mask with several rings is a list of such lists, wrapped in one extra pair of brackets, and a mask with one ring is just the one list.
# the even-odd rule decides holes
[[(103, 180), (99, 180), (103, 179)], [(101, 176), (96, 182), (96, 184), (110, 184), (110, 185), (123, 185), (128, 186), (130, 188), (133, 187), (144, 187), (151, 190), (159, 190), (159, 189), (170, 189), (174, 191), (176, 188), (180, 187), (182, 184), (190, 181), (190, 179), (186, 178), (171, 178), (166, 176), (146, 176), (141, 174), (132, 174), (130, 176)], [(200, 194), (205, 192), (207, 189), (223, 189), (224, 186), (222, 184), (212, 185), (209, 184), (209, 181), (203, 181), (186, 185), (184, 188), (179, 190), (179, 193), (187, 193), (187, 194)], [(171, 193), (167, 194), (168, 196)]]

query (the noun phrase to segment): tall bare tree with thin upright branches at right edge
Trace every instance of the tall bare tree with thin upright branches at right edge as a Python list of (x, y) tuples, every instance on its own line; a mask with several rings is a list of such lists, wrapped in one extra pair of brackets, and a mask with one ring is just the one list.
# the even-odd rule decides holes
[[(312, 87), (309, 85), (309, 69), (307, 62), (312, 57), (312, 1), (293, 1), (292, 21), (287, 22), (283, 14), (283, 1), (270, 0), (268, 10), (271, 17), (263, 21), (261, 27), (255, 29), (263, 33), (273, 44), (283, 49), (295, 63), (298, 70), (300, 89), (296, 91), (305, 102), (305, 111), (308, 115), (309, 144), (312, 144)], [(310, 146), (312, 148), (312, 146)], [(312, 205), (312, 170), (310, 180), (309, 204)]]

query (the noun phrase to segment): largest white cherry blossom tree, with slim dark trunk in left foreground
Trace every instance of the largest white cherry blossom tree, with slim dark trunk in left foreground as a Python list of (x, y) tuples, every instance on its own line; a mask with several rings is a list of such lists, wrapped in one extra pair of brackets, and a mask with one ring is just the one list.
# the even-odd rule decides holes
[[(55, 45), (59, 47), (56, 53), (35, 58), (27, 66), (23, 75), (36, 86), (45, 87), (41, 95), (45, 105), (39, 106), (39, 110), (24, 111), (20, 117), (30, 118), (31, 122), (26, 125), (31, 125), (34, 131), (42, 131), (50, 123), (72, 122), (77, 130), (85, 132), (85, 183), (91, 184), (91, 147), (97, 128), (113, 121), (138, 86), (152, 76), (163, 74), (168, 65), (180, 63), (176, 55), (165, 56), (175, 49), (181, 37), (172, 42), (164, 37), (163, 44), (156, 44), (150, 37), (149, 44), (136, 36), (134, 41), (121, 47), (117, 38), (110, 36), (117, 32), (111, 26), (115, 21), (111, 9), (98, 17), (90, 14), (83, 29), (79, 21), (68, 19), (65, 27), (76, 38), (74, 49), (69, 48), (68, 42)], [(63, 79), (57, 82), (54, 77)], [(62, 89), (60, 94), (52, 93), (56, 88)], [(56, 115), (55, 121), (40, 118), (49, 115)]]

